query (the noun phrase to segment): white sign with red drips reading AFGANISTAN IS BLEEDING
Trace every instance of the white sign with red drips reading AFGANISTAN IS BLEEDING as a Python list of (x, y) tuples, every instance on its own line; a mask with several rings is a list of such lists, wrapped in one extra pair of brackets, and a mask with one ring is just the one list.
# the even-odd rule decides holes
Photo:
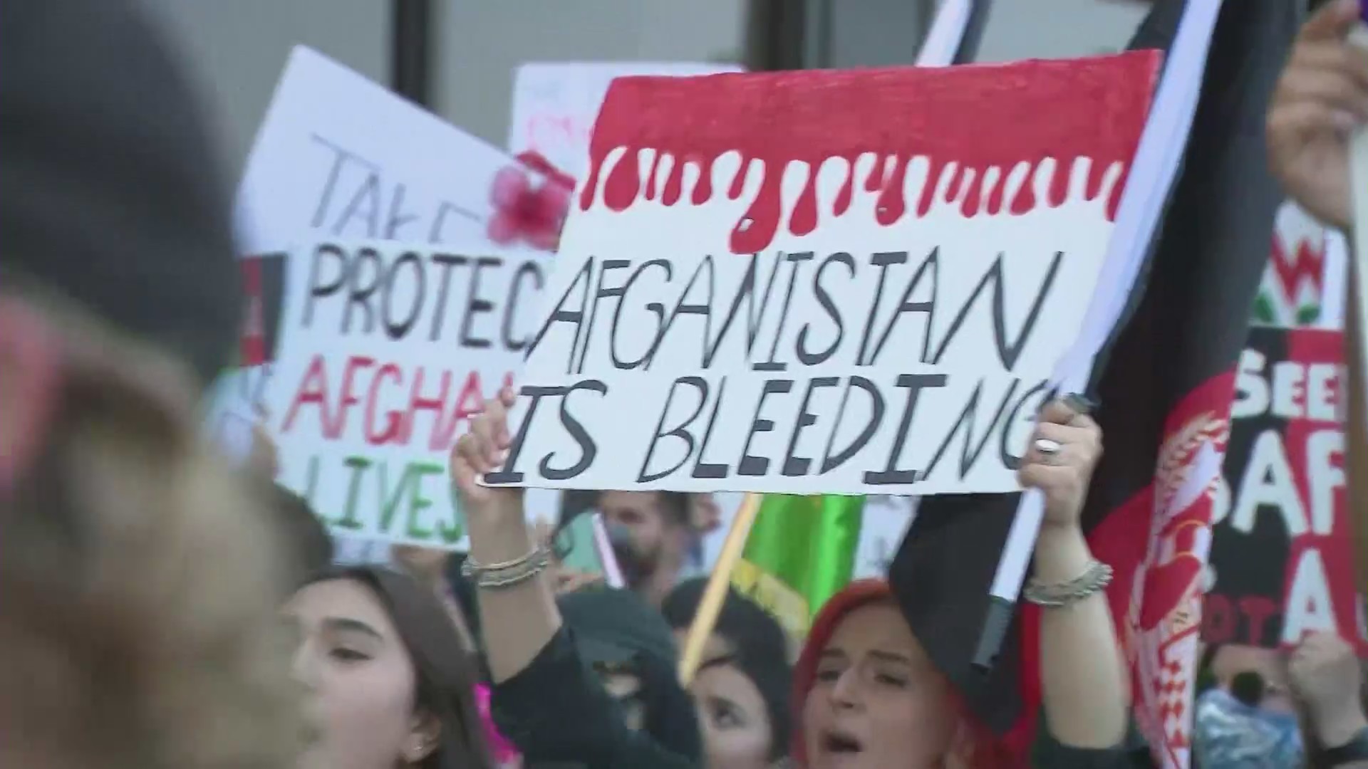
[(488, 480), (1018, 488), (1156, 64), (614, 81)]

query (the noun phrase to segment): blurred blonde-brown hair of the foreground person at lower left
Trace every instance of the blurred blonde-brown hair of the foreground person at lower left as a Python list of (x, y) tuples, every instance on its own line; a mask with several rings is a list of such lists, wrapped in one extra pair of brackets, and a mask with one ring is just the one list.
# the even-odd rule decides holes
[(41, 454), (0, 490), (0, 765), (293, 766), (265, 501), (201, 441), (187, 372), (40, 312), (63, 376)]

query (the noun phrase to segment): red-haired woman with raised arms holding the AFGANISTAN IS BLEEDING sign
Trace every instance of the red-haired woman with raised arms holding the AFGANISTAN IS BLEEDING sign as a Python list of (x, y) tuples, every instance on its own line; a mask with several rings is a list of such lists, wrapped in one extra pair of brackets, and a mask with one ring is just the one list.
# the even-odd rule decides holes
[[(613, 717), (606, 694), (586, 681), (573, 634), (564, 628), (547, 557), (528, 531), (521, 491), (487, 487), (512, 442), (505, 389), (453, 449), (451, 471), (471, 523), (471, 572), (494, 675), (495, 717), (524, 753), (606, 769), (687, 766)], [(1040, 624), (1041, 681), (1056, 750), (1042, 766), (1127, 766), (1127, 687), (1104, 587), (1109, 569), (1092, 558), (1079, 512), (1101, 453), (1097, 424), (1081, 398), (1048, 404), (1018, 471), (1045, 495), (1027, 599), (1045, 608)], [(795, 668), (793, 758), (807, 769), (1000, 766), (988, 740), (955, 714), (955, 696), (902, 618), (886, 584), (859, 583), (814, 625)], [(535, 691), (554, 688), (554, 703)], [(561, 709), (576, 728), (555, 729)]]

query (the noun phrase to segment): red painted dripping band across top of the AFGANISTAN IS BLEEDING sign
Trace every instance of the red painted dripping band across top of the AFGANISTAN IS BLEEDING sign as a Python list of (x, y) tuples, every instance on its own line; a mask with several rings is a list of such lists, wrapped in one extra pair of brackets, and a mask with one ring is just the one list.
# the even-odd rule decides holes
[[(580, 196), (588, 208), (595, 194), (613, 211), (622, 211), (644, 194), (654, 200), (654, 170), (661, 153), (674, 157), (662, 203), (681, 197), (687, 163), (700, 172), (689, 197), (692, 205), (713, 197), (711, 170), (726, 152), (741, 157), (740, 171), (726, 194), (741, 196), (751, 163), (763, 172), (750, 209), (732, 230), (736, 253), (763, 250), (782, 219), (780, 182), (792, 161), (807, 163), (808, 179), (788, 216), (789, 231), (803, 235), (817, 226), (817, 170), (829, 157), (850, 164), (832, 212), (850, 209), (854, 163), (874, 153), (877, 163), (865, 178), (865, 190), (878, 192), (876, 219), (888, 226), (907, 213), (903, 185), (908, 161), (926, 157), (929, 174), (915, 212), (925, 216), (936, 204), (941, 175), (953, 163), (948, 194), (962, 196), (964, 216), (1060, 205), (1068, 190), (1070, 168), (1079, 157), (1092, 159), (1086, 194), (1097, 197), (1114, 163), (1129, 166), (1155, 82), (1160, 55), (1140, 51), (1118, 56), (1056, 62), (1018, 62), (936, 70), (888, 68), (806, 73), (724, 74), (700, 78), (617, 78), (609, 89), (590, 141), (590, 178)], [(625, 153), (601, 178), (614, 149)], [(640, 178), (640, 153), (657, 153), (651, 181)], [(1036, 200), (1033, 174), (1055, 159), (1048, 198)], [(892, 172), (885, 163), (893, 159)], [(1012, 200), (1004, 186), (1012, 168), (1026, 161), (1030, 174)], [(999, 168), (985, 192), (984, 174)], [(959, 190), (973, 177), (969, 190)], [(1107, 216), (1115, 218), (1126, 172), (1111, 189)]]

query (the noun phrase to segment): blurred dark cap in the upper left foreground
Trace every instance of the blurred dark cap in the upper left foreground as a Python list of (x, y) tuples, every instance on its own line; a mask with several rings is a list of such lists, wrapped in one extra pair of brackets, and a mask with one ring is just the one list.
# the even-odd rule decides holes
[(0, 267), (161, 345), (207, 386), (242, 313), (228, 186), (140, 5), (0, 4)]

